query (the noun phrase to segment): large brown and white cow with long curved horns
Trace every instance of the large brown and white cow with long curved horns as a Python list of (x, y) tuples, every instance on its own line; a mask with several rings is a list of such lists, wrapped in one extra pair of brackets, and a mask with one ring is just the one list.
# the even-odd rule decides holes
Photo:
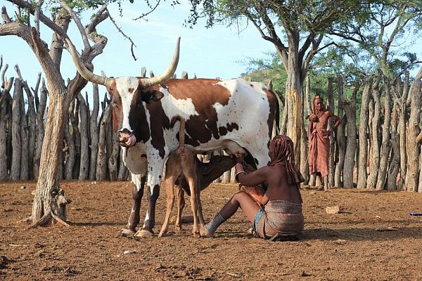
[[(127, 232), (139, 223), (143, 185), (148, 209), (138, 235), (153, 235), (155, 202), (165, 160), (179, 147), (179, 115), (186, 120), (186, 148), (196, 153), (225, 149), (235, 156), (250, 154), (260, 168), (269, 162), (268, 147), (279, 105), (273, 91), (244, 79), (170, 79), (179, 62), (179, 44), (167, 70), (157, 77), (106, 77), (81, 63), (75, 46), (68, 51), (84, 79), (106, 86), (113, 105), (113, 129), (123, 148), (123, 161), (131, 172), (133, 207)], [(277, 126), (278, 127), (278, 126)]]

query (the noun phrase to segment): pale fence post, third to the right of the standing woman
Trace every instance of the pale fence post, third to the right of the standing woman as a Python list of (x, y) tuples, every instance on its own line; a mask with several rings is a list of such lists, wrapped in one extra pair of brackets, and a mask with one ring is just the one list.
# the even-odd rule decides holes
[(371, 93), (372, 79), (367, 79), (362, 93), (361, 112), (359, 117), (359, 160), (357, 164), (357, 188), (366, 188), (366, 159), (368, 159), (368, 120), (369, 94)]

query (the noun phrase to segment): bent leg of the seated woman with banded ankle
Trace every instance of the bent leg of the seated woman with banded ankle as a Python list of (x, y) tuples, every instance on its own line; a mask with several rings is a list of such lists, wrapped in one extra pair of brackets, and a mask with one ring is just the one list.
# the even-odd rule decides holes
[(238, 192), (233, 197), (231, 197), (231, 200), (227, 202), (224, 207), (215, 215), (214, 218), (212, 218), (212, 221), (210, 223), (207, 223), (204, 228), (201, 228), (201, 235), (206, 237), (212, 237), (214, 235), (215, 230), (226, 221), (227, 218), (230, 218), (231, 216), (236, 213), (237, 209), (241, 207), (243, 209), (243, 212), (245, 212), (246, 217), (248, 218), (248, 221), (253, 223), (255, 219), (255, 215), (260, 210), (260, 207), (255, 202), (255, 200), (252, 199), (246, 192)]

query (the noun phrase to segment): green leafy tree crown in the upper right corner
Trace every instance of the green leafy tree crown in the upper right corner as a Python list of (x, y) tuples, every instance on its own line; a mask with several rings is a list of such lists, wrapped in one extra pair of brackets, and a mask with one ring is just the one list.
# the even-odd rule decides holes
[(390, 79), (415, 67), (416, 55), (406, 51), (413, 42), (407, 38), (420, 30), (422, 1), (370, 1), (363, 11), (366, 20), (356, 17), (334, 25), (328, 33), (352, 42)]

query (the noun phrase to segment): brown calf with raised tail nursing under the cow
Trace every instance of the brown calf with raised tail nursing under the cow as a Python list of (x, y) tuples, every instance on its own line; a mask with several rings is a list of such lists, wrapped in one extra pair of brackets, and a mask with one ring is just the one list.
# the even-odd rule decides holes
[(193, 236), (200, 236), (198, 228), (198, 218), (200, 226), (204, 225), (202, 205), (200, 203), (200, 191), (204, 190), (212, 181), (219, 178), (224, 171), (231, 169), (236, 164), (236, 160), (229, 156), (213, 156), (209, 163), (200, 162), (193, 152), (184, 146), (185, 120), (180, 120), (179, 148), (170, 153), (165, 171), (165, 187), (167, 193), (167, 209), (165, 221), (162, 224), (160, 234), (167, 233), (170, 221), (170, 214), (174, 204), (174, 184), (179, 185), (177, 221), (176, 229), (181, 230), (181, 210), (184, 207), (184, 191), (191, 196), (191, 207), (193, 213)]

